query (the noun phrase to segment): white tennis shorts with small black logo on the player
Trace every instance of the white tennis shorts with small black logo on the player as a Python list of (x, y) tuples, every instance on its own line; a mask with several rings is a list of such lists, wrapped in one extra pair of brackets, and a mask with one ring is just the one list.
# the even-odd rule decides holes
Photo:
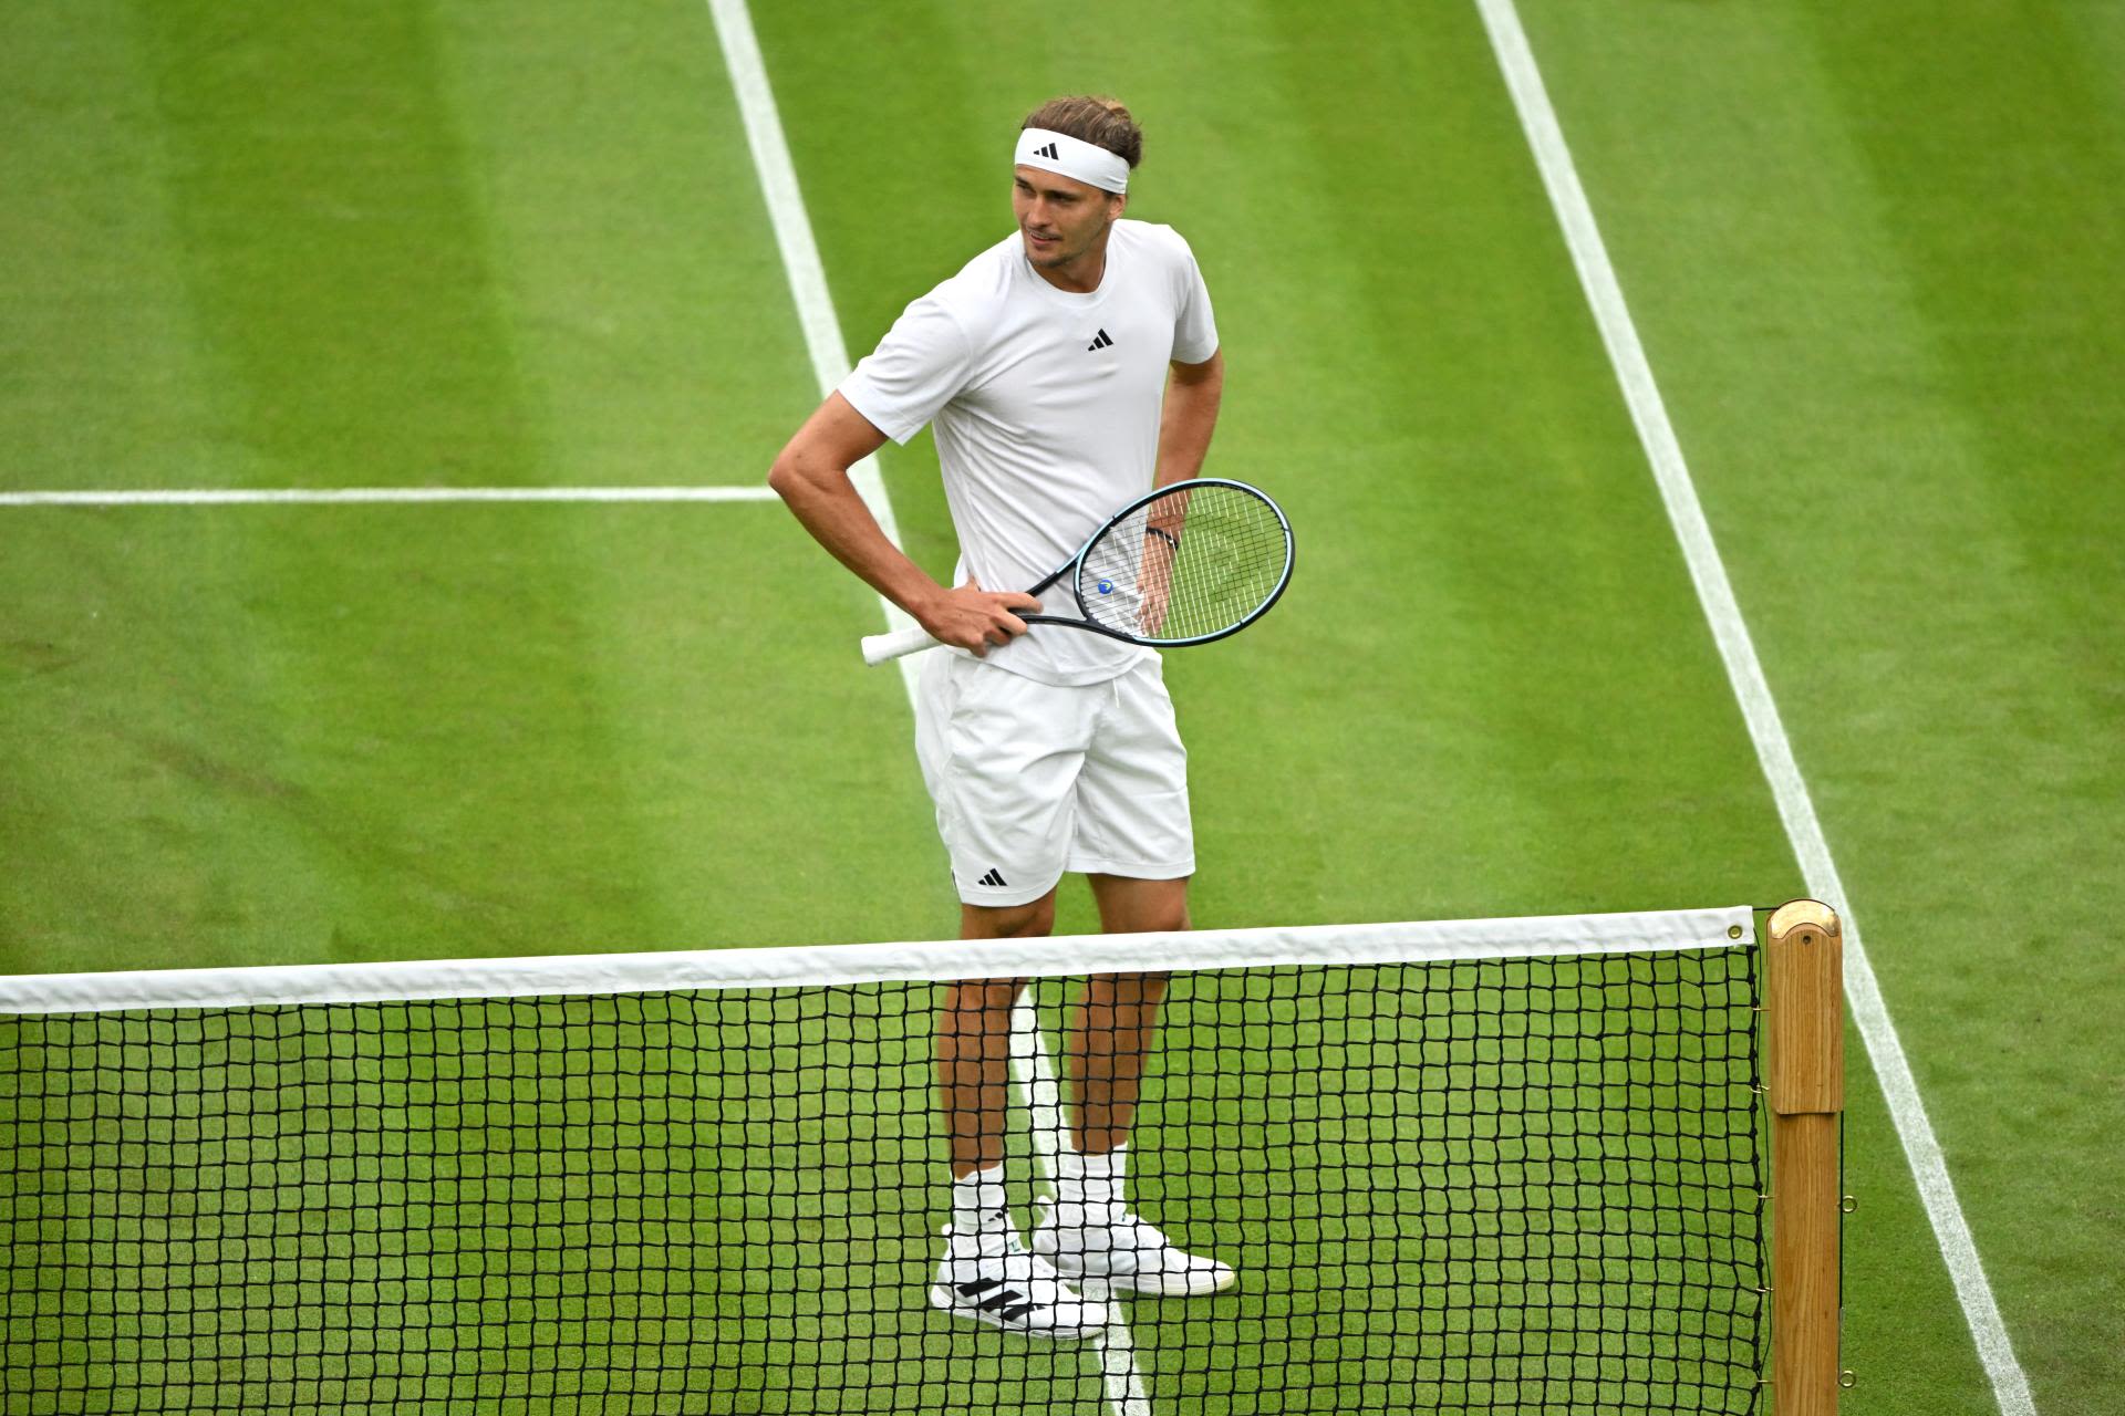
[(1058, 688), (931, 654), (916, 758), (967, 904), (1031, 904), (1065, 870), (1194, 875), (1188, 749), (1158, 658)]

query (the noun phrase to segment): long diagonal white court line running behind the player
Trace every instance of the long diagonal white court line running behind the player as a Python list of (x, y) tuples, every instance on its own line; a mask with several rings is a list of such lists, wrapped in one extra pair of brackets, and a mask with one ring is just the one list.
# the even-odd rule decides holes
[[(812, 352), (812, 374), (818, 380), (820, 397), (827, 397), (848, 378), (848, 348), (842, 344), (842, 325), (835, 321), (833, 297), (827, 293), (827, 267), (818, 259), (818, 242), (812, 240), (812, 219), (805, 214), (803, 193), (797, 187), (797, 168), (790, 161), (788, 140), (782, 136), (782, 115), (776, 108), (774, 87), (767, 83), (761, 42), (752, 34), (752, 15), (746, 11), (746, 0), (708, 0), (708, 11), (716, 21), (716, 38), (722, 45), (725, 66), (731, 70), (737, 110), (746, 123), (746, 144), (752, 149), (752, 166), (761, 174), (761, 193), (767, 197), (776, 244), (782, 248), (782, 270), (788, 272), (805, 348)], [(878, 529), (886, 533), (888, 541), (899, 546), (899, 522), (892, 516), (884, 478), (878, 473), (878, 461), (867, 456), (850, 467), (848, 476), (856, 486), (856, 495), (863, 497), (863, 503), (878, 520)], [(886, 597), (878, 597), (878, 605), (886, 616), (886, 628), (914, 628), (914, 620)], [(916, 701), (920, 658), (918, 654), (910, 654), (899, 660), (901, 686), (907, 692), (910, 707)], [(1052, 1076), (1054, 1064), (1046, 1055), (1037, 1025), (1031, 1028), (1031, 1042), (1024, 1042), (1024, 1047), (1026, 1076), (1031, 1078), (1035, 1070)], [(1046, 1091), (1035, 1093), (1026, 1089), (1022, 1100), (1035, 1108), (1035, 1117), (1052, 1106), (1052, 1098)], [(1056, 1123), (1048, 1121), (1048, 1125)], [(1043, 1157), (1043, 1163), (1052, 1163), (1052, 1157)], [(1116, 1320), (1107, 1333), (1092, 1337), (1090, 1346), (1099, 1357), (1101, 1378), (1107, 1386), (1107, 1405), (1114, 1416), (1150, 1416), (1150, 1401), (1143, 1397), (1143, 1378), (1137, 1371), (1137, 1352), (1128, 1327)]]

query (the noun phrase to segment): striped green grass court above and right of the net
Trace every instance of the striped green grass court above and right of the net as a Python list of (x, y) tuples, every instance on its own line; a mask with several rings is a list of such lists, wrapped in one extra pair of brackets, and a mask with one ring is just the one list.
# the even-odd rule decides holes
[[(1524, 13), (2036, 1405), (2106, 1410), (2125, 13)], [(1203, 923), (1802, 890), (1473, 6), (754, 19), (856, 355), (1039, 98), (1145, 119), (1300, 535), (1169, 662)], [(699, 4), (13, 6), (0, 132), (4, 488), (756, 482), (816, 401)], [(0, 507), (0, 970), (948, 934), (876, 626), (771, 505)], [(1844, 1410), (1989, 1412), (1862, 1057)]]

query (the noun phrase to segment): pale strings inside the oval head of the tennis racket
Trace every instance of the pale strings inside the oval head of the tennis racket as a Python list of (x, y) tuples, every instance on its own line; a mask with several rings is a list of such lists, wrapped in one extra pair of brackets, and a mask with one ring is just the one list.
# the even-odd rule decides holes
[(1084, 556), (1094, 622), (1152, 641), (1203, 639), (1247, 622), (1290, 565), (1290, 533), (1262, 497), (1190, 486), (1114, 522)]

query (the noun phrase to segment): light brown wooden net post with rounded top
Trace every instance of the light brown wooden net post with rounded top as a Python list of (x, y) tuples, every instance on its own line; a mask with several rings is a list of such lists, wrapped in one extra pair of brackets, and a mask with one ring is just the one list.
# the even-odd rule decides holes
[(1766, 930), (1770, 1066), (1770, 1397), (1774, 1416), (1838, 1410), (1838, 1112), (1844, 1110), (1844, 934), (1819, 900)]

